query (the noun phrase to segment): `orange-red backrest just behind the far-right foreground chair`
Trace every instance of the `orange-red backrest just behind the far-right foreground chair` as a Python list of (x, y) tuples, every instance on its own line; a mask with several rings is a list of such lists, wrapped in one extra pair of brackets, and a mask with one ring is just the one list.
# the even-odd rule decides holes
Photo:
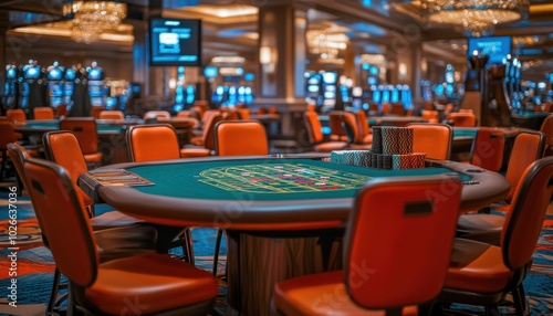
[(511, 190), (505, 197), (507, 201), (513, 198), (524, 170), (543, 157), (544, 146), (545, 136), (540, 131), (524, 130), (517, 136), (505, 172), (505, 178), (511, 185)]

